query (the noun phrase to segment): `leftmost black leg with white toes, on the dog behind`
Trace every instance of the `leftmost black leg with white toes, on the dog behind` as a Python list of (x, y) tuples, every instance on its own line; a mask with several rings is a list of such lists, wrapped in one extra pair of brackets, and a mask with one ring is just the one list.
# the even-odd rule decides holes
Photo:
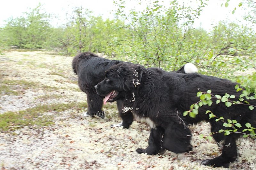
[(86, 114), (92, 117), (96, 115), (103, 119), (105, 117), (105, 112), (101, 109), (103, 106), (103, 97), (93, 92), (86, 93), (86, 96), (88, 105)]

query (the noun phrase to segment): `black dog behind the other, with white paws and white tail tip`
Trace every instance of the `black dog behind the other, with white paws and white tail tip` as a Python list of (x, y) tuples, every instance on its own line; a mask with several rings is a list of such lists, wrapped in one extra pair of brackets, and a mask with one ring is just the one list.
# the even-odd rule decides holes
[[(99, 57), (98, 55), (91, 52), (84, 52), (77, 54), (73, 61), (72, 67), (75, 74), (78, 76), (78, 85), (80, 89), (86, 93), (88, 111), (84, 116), (97, 115), (101, 118), (105, 117), (105, 112), (102, 110), (103, 98), (96, 93), (94, 86), (102, 81), (105, 77), (106, 70), (122, 61), (119, 60), (108, 60)], [(185, 64), (177, 72), (179, 73), (194, 73), (197, 72), (195, 65), (191, 63)], [(131, 111), (123, 114), (123, 103), (121, 100), (117, 100), (117, 108), (119, 115), (122, 118), (122, 122), (112, 126), (123, 126), (129, 128), (133, 121), (133, 115)], [(106, 101), (104, 101), (106, 103)]]

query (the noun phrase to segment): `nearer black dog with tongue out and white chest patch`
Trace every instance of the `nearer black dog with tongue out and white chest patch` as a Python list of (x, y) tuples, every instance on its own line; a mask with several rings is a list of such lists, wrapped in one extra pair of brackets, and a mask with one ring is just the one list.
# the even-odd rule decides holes
[[(198, 91), (206, 92), (212, 90), (212, 94), (224, 96), (225, 93), (235, 95), (234, 101), (238, 101), (241, 91), (236, 92), (236, 83), (217, 77), (200, 74), (179, 74), (166, 72), (158, 68), (144, 68), (140, 65), (130, 63), (119, 63), (110, 67), (106, 77), (95, 86), (97, 93), (101, 96), (109, 96), (108, 102), (123, 100), (124, 110), (132, 111), (139, 119), (145, 120), (151, 126), (151, 133), (146, 149), (138, 148), (138, 153), (157, 154), (164, 149), (175, 153), (189, 152), (191, 132), (188, 124), (196, 124), (207, 121), (211, 124), (211, 131), (218, 132), (220, 129), (232, 129), (223, 126), (223, 122), (216, 122), (216, 118), (209, 119), (206, 110), (211, 110), (217, 117), (237, 120), (242, 125), (238, 132), (247, 129), (245, 124), (249, 122), (256, 126), (256, 109), (249, 110), (248, 105), (233, 104), (226, 107), (224, 103), (216, 104), (212, 99), (211, 106), (203, 105), (198, 109), (195, 118), (183, 116), (184, 111), (190, 109), (190, 105), (198, 102), (196, 97)], [(250, 101), (256, 105), (255, 100)], [(243, 132), (247, 133), (247, 131)], [(214, 133), (216, 142), (224, 141), (222, 153), (213, 159), (206, 159), (204, 165), (213, 167), (223, 166), (228, 168), (229, 163), (237, 157), (236, 139), (239, 133)]]

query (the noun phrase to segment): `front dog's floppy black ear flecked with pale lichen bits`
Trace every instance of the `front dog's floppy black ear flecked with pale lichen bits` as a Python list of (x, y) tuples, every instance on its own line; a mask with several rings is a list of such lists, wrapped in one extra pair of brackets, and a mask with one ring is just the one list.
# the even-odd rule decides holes
[(124, 91), (131, 91), (140, 85), (144, 67), (139, 64), (124, 63), (117, 69), (117, 74), (122, 78)]

